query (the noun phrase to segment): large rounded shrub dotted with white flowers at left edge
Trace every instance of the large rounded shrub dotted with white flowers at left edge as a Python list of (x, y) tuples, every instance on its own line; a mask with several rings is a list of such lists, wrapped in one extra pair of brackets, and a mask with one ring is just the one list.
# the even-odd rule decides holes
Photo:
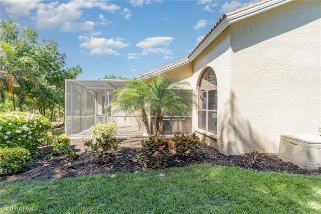
[(47, 118), (24, 112), (0, 113), (0, 147), (23, 147), (32, 156), (48, 139), (51, 123)]

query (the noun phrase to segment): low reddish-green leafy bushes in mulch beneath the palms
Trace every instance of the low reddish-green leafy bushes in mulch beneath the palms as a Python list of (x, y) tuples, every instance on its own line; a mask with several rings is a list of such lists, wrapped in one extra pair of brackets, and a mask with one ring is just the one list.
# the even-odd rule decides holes
[(148, 140), (141, 141), (141, 148), (136, 151), (139, 154), (138, 160), (143, 161), (147, 166), (160, 168), (164, 155), (173, 155), (181, 158), (189, 158), (191, 150), (203, 145), (200, 138), (195, 134), (185, 136), (175, 135), (172, 140), (149, 136)]

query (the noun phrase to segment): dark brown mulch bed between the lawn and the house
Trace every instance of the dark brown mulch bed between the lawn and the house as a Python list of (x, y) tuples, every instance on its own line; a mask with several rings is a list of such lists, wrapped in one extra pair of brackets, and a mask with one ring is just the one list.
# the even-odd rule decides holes
[[(95, 163), (93, 157), (89, 153), (85, 152), (86, 146), (84, 146), (84, 142), (88, 139), (72, 139), (71, 148), (73, 151), (80, 154), (80, 158), (75, 166), (68, 169), (65, 169), (64, 163), (62, 163), (62, 161), (66, 159), (67, 155), (60, 157), (52, 156), (47, 160), (46, 156), (52, 153), (52, 147), (45, 146), (41, 148), (40, 155), (33, 161), (33, 164), (28, 171), (14, 175), (2, 176), (1, 182), (28, 179), (60, 179), (79, 175), (142, 171), (144, 170), (143, 165), (135, 161), (135, 157), (137, 155), (136, 148), (141, 146), (140, 142), (142, 139), (143, 138), (141, 137), (119, 138), (118, 143), (120, 150), (118, 150), (113, 157), (113, 162), (105, 165)], [(313, 175), (321, 174), (321, 168), (318, 170), (305, 171), (292, 163), (286, 163), (278, 159), (277, 154), (259, 154), (252, 166), (249, 161), (250, 154), (226, 156), (206, 145), (202, 146), (200, 149), (193, 150), (192, 155), (193, 157), (189, 161), (166, 157), (163, 159), (163, 166), (183, 167), (189, 164), (198, 163), (239, 166), (246, 169), (252, 169), (253, 171), (277, 171), (291, 174)]]

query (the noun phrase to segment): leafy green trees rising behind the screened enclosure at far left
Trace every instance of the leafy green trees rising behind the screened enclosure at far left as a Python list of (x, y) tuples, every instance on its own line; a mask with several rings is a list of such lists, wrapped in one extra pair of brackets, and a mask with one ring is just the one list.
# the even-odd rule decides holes
[(20, 111), (38, 111), (52, 119), (54, 108), (64, 107), (64, 80), (77, 78), (82, 68), (65, 68), (66, 54), (59, 52), (57, 42), (39, 42), (38, 36), (35, 29), (20, 32), (13, 20), (1, 20), (0, 101), (9, 99), (13, 110), (17, 105)]

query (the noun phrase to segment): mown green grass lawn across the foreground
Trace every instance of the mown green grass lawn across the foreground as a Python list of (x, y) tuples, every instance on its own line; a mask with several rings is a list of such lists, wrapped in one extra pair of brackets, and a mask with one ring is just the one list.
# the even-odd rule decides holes
[(191, 165), (0, 187), (0, 212), (31, 207), (36, 213), (321, 213), (321, 176), (239, 167)]

